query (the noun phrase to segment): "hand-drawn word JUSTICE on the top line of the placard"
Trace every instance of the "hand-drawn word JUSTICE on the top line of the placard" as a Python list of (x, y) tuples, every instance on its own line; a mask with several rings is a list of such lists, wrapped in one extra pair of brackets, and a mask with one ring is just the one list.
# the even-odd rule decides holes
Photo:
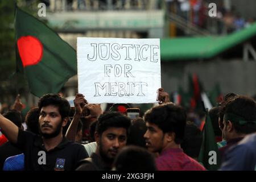
[[(130, 55), (135, 55), (134, 61), (146, 61), (148, 59), (145, 55), (150, 55), (151, 62), (158, 62), (155, 56), (159, 54), (158, 45), (136, 45), (136, 44), (118, 44), (118, 43), (91, 43), (90, 46), (93, 48), (92, 55), (87, 55), (89, 61), (96, 61), (98, 58), (100, 60), (131, 60)], [(125, 54), (122, 54), (119, 50), (125, 49)], [(133, 52), (131, 52), (133, 51)], [(98, 57), (98, 58), (97, 58)]]

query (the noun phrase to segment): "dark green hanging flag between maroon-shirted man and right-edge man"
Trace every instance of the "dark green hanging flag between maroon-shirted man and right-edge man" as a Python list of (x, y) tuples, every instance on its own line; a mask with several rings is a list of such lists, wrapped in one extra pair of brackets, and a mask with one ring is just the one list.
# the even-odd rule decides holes
[(209, 171), (216, 171), (220, 167), (220, 155), (209, 114), (206, 114), (203, 129), (203, 142), (201, 144), (199, 162)]

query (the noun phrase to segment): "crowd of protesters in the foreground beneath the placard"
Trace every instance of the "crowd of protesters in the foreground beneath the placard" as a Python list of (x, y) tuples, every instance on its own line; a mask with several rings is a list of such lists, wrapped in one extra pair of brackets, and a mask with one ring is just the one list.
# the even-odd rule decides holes
[[(163, 88), (158, 102), (142, 118), (131, 119), (129, 104), (102, 111), (100, 104), (89, 104), (77, 93), (71, 110), (59, 94), (46, 94), (23, 119), (18, 96), (11, 109), (0, 114), (0, 170), (207, 170), (197, 161), (203, 140), (200, 125), (170, 102)], [(254, 99), (229, 93), (209, 116), (220, 170), (255, 170)]]

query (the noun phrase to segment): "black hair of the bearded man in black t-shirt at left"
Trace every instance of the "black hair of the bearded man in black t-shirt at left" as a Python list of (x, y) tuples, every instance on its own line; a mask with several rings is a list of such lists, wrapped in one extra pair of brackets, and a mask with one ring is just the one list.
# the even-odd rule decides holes
[(68, 117), (70, 111), (69, 102), (65, 98), (60, 97), (59, 94), (50, 93), (42, 96), (38, 102), (39, 113), (42, 107), (46, 107), (48, 105), (57, 106), (62, 119)]

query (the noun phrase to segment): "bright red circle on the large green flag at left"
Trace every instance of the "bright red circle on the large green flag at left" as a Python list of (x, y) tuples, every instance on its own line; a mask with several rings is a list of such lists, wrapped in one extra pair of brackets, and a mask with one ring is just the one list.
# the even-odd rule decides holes
[(17, 44), (23, 67), (38, 64), (42, 60), (43, 45), (34, 36), (21, 36)]

